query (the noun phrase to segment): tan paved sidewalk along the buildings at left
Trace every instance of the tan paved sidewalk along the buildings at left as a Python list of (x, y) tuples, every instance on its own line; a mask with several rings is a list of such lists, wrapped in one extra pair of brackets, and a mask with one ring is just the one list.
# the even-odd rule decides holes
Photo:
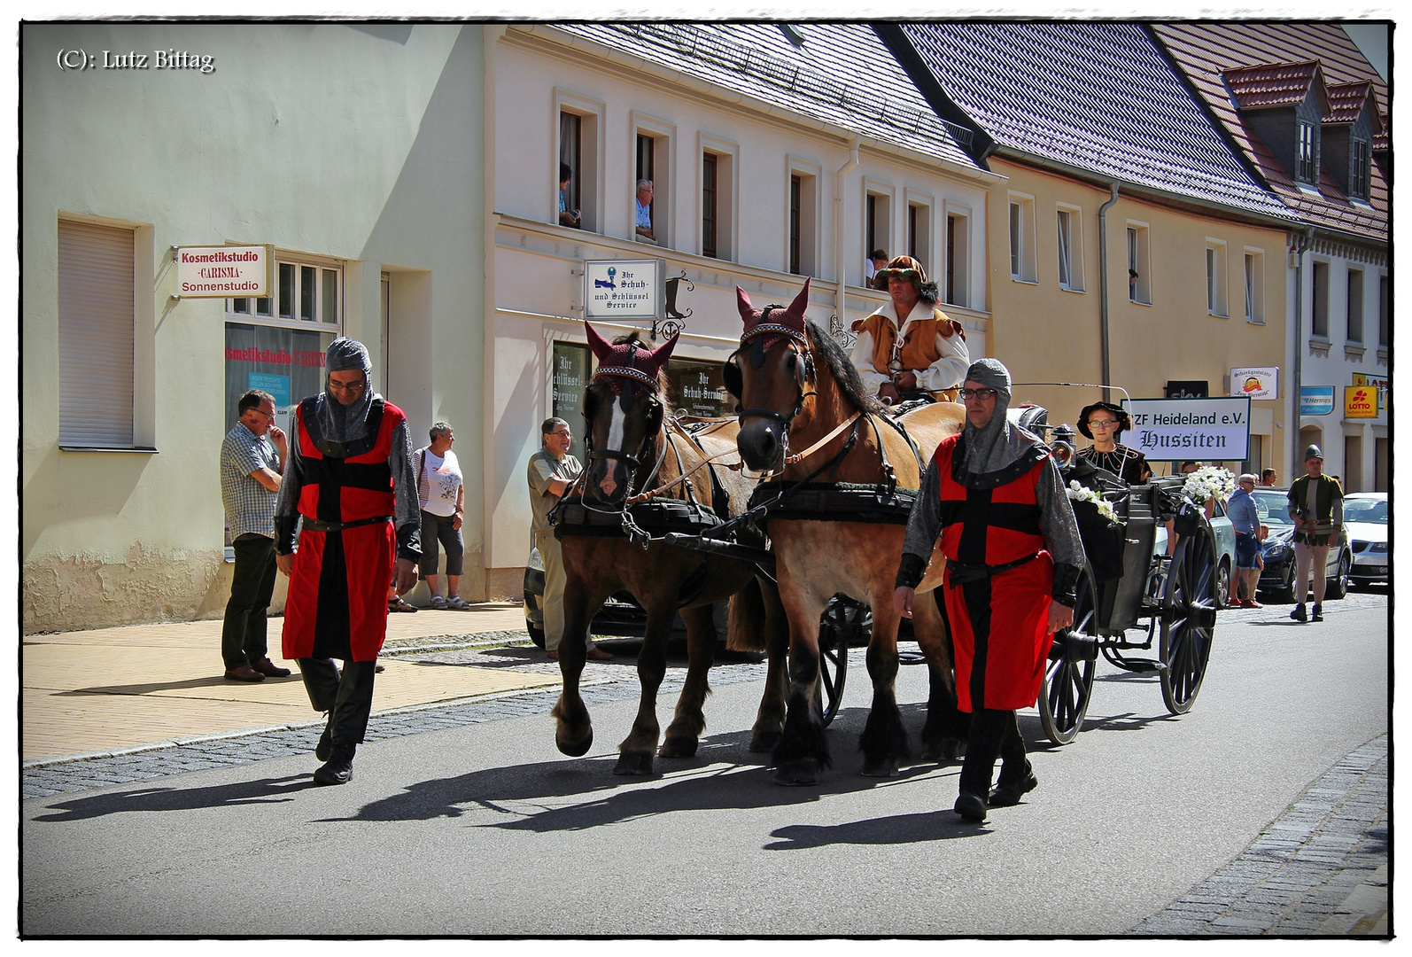
[[(524, 610), (486, 603), (470, 611), (393, 614), (377, 678), (377, 711), (558, 682), (558, 669), (426, 668), (397, 651), (487, 641), (525, 642), (527, 663), (548, 659), (528, 644)], [(21, 649), (21, 761), (104, 754), (164, 741), (313, 721), (294, 662), (280, 656), (282, 618), (270, 620), (270, 658), (289, 678), (227, 682), (220, 620), (27, 635)]]

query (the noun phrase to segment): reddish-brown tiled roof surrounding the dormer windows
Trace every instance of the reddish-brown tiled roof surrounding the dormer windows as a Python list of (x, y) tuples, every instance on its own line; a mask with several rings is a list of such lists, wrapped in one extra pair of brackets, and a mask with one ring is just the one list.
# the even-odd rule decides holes
[[(1388, 183), (1372, 164), (1368, 202), (1350, 202), (1327, 175), (1320, 178), (1320, 195), (1300, 189), (1289, 171), (1251, 128), (1226, 92), (1223, 73), (1251, 64), (1303, 62), (1317, 59), (1324, 83), (1370, 82), (1378, 113), (1387, 116), (1388, 88), (1348, 35), (1332, 23), (1155, 23), (1151, 31), (1186, 73), (1231, 140), (1260, 169), (1269, 188), (1303, 222), (1388, 239)], [(1377, 145), (1377, 143), (1374, 144)]]

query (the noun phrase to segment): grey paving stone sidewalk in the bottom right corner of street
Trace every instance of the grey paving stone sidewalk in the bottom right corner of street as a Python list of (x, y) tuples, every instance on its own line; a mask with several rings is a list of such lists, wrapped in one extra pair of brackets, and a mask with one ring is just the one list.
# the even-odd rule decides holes
[(1234, 861), (1131, 934), (1388, 937), (1388, 735), (1343, 758)]

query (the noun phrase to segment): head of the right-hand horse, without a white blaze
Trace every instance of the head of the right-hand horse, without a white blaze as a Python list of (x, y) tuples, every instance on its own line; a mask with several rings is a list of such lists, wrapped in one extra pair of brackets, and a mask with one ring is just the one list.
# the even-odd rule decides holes
[(791, 423), (813, 394), (813, 346), (803, 312), (809, 305), (809, 279), (788, 309), (755, 309), (736, 287), (736, 305), (746, 329), (737, 349), (722, 367), (726, 390), (736, 397), (740, 457), (755, 471), (784, 464)]

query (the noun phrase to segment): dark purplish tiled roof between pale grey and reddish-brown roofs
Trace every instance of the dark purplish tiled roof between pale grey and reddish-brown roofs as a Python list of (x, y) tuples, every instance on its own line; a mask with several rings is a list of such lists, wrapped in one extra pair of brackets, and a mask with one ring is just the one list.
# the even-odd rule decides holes
[(1137, 24), (921, 23), (902, 31), (946, 95), (1003, 148), (1289, 217)]

